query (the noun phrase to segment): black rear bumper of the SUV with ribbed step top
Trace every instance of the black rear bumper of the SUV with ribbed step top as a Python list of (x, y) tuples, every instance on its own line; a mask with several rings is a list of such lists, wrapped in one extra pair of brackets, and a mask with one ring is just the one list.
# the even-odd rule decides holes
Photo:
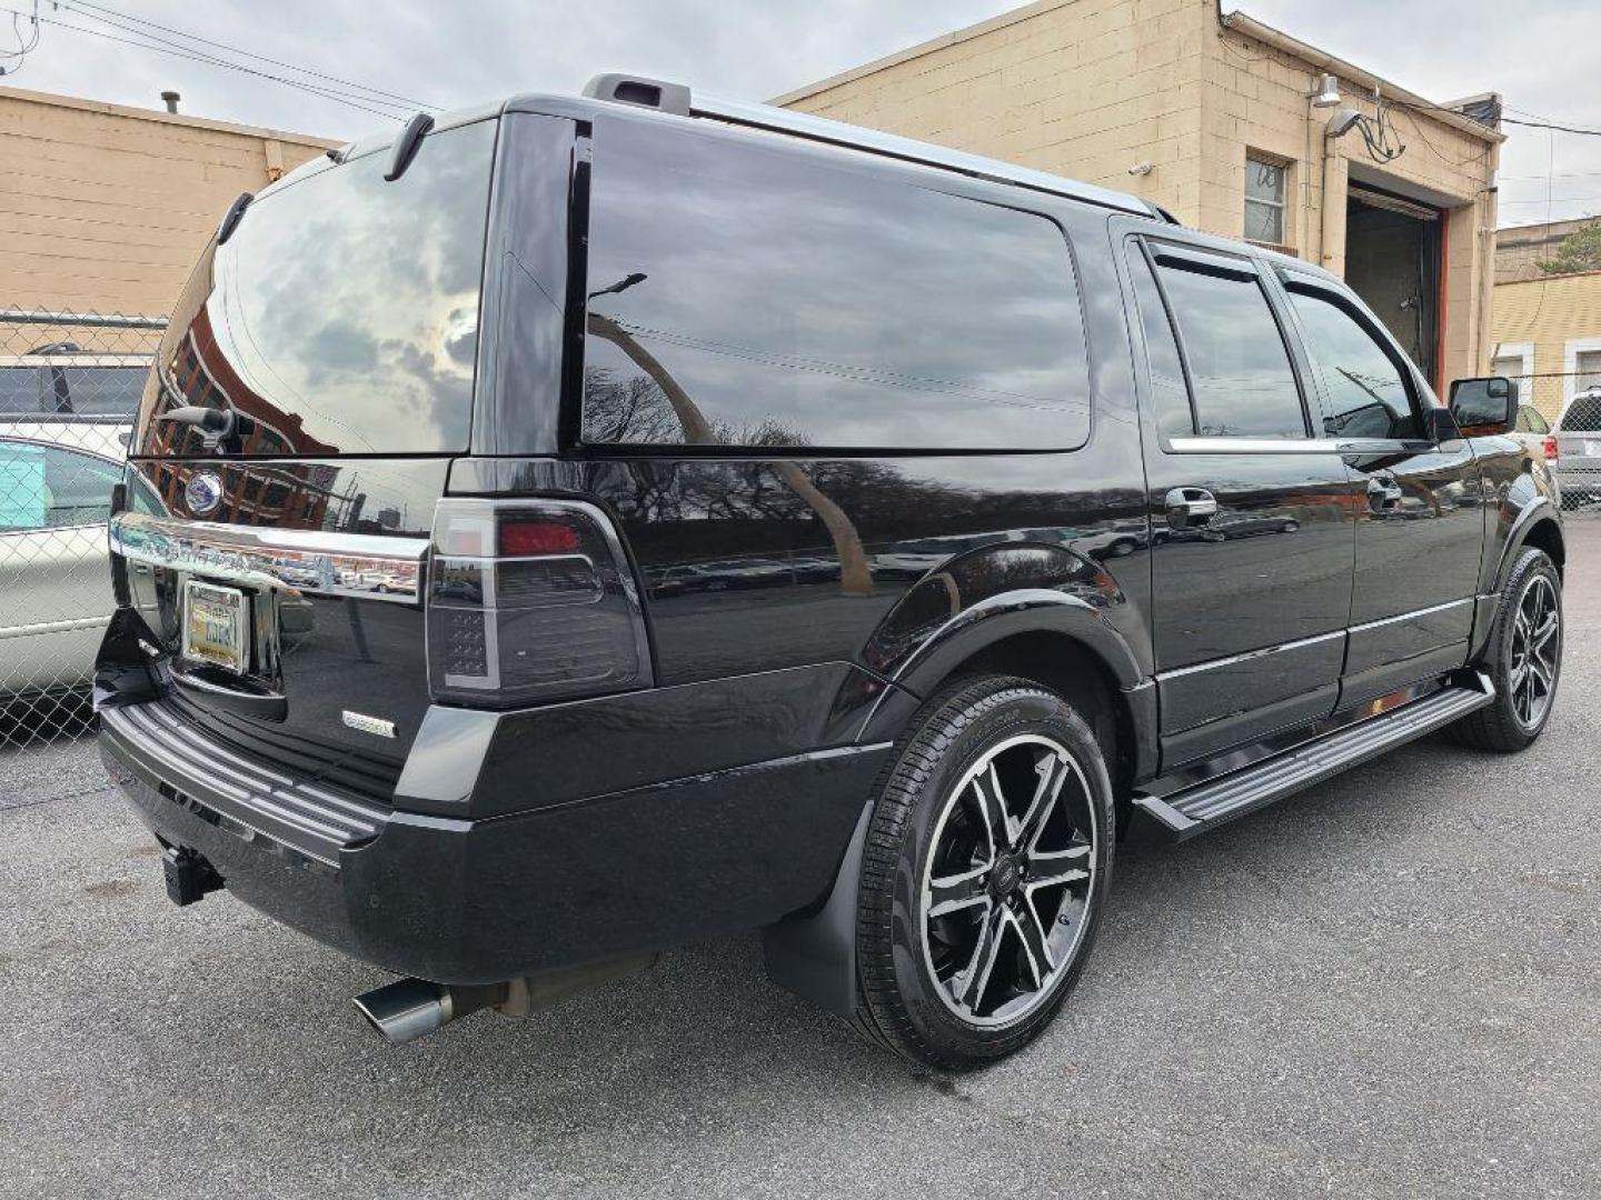
[[(658, 950), (817, 902), (889, 752), (836, 747), (467, 821), (208, 754), (158, 710), (102, 710), (101, 754), (162, 842), (203, 854), (285, 925), (451, 984)], [(459, 763), (461, 778), (480, 765)]]

